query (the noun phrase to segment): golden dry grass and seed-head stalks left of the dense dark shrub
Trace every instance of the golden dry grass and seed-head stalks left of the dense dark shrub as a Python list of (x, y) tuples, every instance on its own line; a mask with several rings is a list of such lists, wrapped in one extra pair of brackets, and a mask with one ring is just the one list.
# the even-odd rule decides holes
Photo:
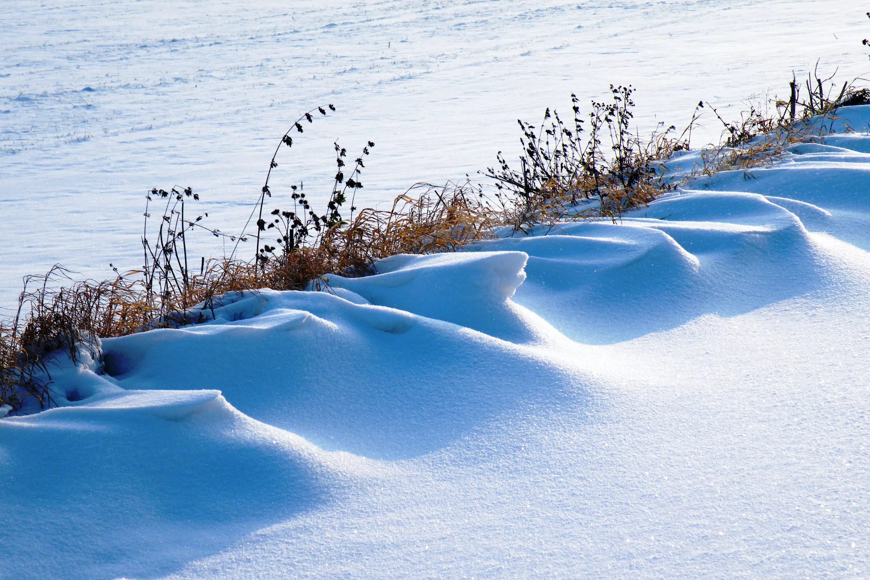
[[(238, 235), (204, 225), (207, 213), (191, 211), (200, 202), (190, 187), (153, 189), (146, 195), (142, 230), (143, 266), (102, 282), (75, 282), (56, 266), (28, 277), (15, 317), (0, 323), (0, 405), (24, 412), (56, 403), (51, 369), (57, 362), (101, 363), (99, 337), (118, 337), (157, 328), (179, 328), (214, 317), (223, 297), (234, 291), (328, 290), (326, 274), (360, 277), (375, 273), (379, 258), (401, 253), (455, 251), (492, 236), (500, 222), (470, 182), (436, 186), (418, 183), (390, 210), (357, 210), (365, 143), (352, 158), (335, 143), (336, 173), (325, 208), (318, 211), (299, 185), (283, 196), (284, 207), (270, 209), (270, 177), (278, 153), (293, 146), (292, 132), (335, 110), (311, 110), (281, 137), (251, 217)], [(277, 199), (277, 197), (276, 197)], [(198, 215), (197, 215), (198, 214)], [(256, 218), (256, 219), (255, 219)], [(253, 225), (254, 232), (248, 231)], [(229, 256), (192, 263), (188, 237), (201, 231), (232, 243)], [(239, 254), (255, 243), (254, 257)]]

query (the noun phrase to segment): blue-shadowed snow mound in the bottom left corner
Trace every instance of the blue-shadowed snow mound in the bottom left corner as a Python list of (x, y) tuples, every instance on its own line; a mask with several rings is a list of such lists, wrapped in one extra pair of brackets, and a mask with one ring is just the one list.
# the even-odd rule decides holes
[(166, 573), (316, 508), (340, 481), (335, 458), (217, 390), (93, 398), (0, 422), (0, 490), (14, 514), (0, 541), (63, 555), (10, 558), (3, 577)]

